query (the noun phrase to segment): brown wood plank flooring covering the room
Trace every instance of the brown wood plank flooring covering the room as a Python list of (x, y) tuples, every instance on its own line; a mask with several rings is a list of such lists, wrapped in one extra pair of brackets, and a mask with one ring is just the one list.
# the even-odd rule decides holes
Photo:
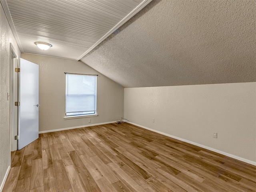
[(137, 126), (40, 134), (3, 192), (256, 192), (256, 166)]

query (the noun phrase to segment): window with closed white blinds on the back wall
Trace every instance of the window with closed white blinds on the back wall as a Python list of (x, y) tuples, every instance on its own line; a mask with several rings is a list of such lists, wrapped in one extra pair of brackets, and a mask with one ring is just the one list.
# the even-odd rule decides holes
[(66, 117), (96, 114), (96, 75), (66, 73)]

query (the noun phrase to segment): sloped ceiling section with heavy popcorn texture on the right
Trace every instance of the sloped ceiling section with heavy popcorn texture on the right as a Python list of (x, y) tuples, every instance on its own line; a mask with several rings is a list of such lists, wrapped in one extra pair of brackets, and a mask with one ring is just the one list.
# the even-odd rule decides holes
[(256, 81), (255, 0), (153, 0), (82, 58), (124, 87)]

